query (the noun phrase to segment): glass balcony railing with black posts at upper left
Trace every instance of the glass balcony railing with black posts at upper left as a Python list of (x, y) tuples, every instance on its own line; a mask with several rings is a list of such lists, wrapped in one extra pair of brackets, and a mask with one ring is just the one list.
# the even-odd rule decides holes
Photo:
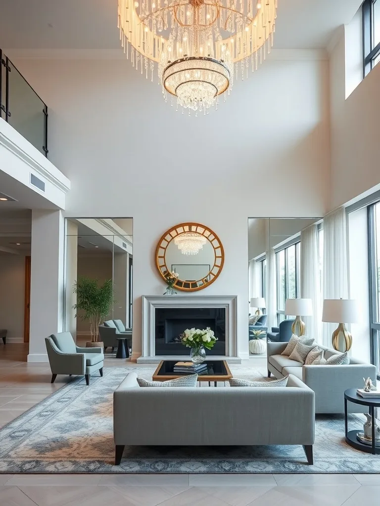
[(48, 107), (1, 49), (0, 117), (48, 156)]

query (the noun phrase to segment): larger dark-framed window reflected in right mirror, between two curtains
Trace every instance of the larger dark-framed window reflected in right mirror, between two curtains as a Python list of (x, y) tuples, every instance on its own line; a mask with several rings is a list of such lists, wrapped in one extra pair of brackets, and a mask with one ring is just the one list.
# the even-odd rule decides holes
[(286, 299), (299, 297), (300, 242), (276, 253), (277, 323), (285, 319)]

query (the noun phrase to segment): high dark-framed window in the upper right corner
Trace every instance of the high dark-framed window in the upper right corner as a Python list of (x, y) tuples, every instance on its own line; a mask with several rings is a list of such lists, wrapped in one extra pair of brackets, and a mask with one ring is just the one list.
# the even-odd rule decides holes
[(364, 76), (380, 61), (380, 0), (363, 3)]

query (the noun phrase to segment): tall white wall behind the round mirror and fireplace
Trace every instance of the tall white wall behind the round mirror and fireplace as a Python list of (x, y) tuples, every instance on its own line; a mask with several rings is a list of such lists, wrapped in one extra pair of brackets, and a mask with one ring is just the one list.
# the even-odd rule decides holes
[(301, 53), (266, 61), (206, 117), (176, 113), (126, 59), (13, 57), (49, 106), (49, 156), (72, 181), (66, 216), (133, 217), (134, 358), (141, 296), (164, 290), (157, 241), (185, 221), (223, 243), (223, 271), (197, 294), (238, 296), (238, 348), (248, 357), (248, 217), (329, 207), (328, 62)]

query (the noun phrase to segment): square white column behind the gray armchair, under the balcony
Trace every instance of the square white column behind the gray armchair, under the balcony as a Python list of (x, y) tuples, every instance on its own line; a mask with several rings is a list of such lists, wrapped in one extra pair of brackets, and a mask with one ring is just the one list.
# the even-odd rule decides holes
[(28, 362), (47, 362), (45, 338), (63, 328), (64, 219), (32, 210)]

